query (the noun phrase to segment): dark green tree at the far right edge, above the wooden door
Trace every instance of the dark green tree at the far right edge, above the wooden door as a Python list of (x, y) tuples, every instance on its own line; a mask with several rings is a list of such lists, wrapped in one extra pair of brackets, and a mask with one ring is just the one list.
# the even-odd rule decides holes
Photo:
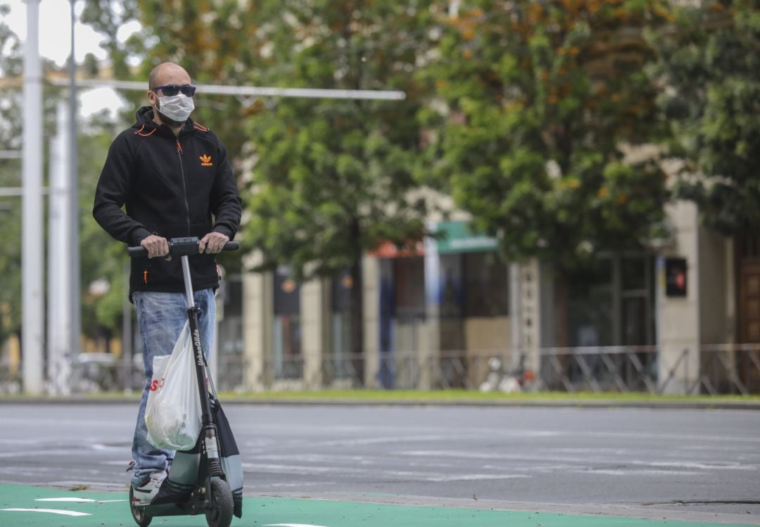
[(701, 2), (651, 34), (654, 74), (672, 123), (670, 153), (686, 159), (676, 187), (724, 235), (760, 229), (760, 8)]

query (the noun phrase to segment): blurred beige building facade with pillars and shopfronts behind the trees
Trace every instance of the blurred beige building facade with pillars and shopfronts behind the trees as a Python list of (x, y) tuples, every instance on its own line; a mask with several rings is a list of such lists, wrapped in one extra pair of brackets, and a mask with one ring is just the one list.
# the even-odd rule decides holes
[(378, 248), (362, 262), (359, 355), (349, 275), (246, 273), (237, 387), (483, 389), (529, 371), (524, 390), (758, 390), (760, 244), (737, 251), (688, 202), (668, 217), (671, 238), (571, 275), (502, 261), (467, 221), (432, 224), (412, 251)]

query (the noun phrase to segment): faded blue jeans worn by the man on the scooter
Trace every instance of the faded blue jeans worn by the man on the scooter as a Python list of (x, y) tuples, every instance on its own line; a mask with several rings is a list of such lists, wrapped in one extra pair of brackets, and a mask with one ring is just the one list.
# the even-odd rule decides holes
[[(135, 437), (132, 440), (132, 459), (135, 460), (131, 484), (140, 486), (150, 479), (152, 472), (161, 472), (169, 468), (174, 458), (171, 450), (159, 450), (147, 441), (145, 428), (145, 404), (153, 377), (153, 358), (157, 355), (170, 355), (174, 343), (188, 320), (188, 305), (185, 293), (164, 293), (136, 291), (132, 295), (138, 314), (138, 327), (143, 345), (143, 362), (145, 368), (145, 387), (140, 400), (138, 422)], [(198, 312), (198, 329), (201, 332), (201, 347), (206, 358), (211, 351), (214, 339), (214, 323), (217, 317), (217, 305), (213, 289), (196, 291), (195, 305)]]

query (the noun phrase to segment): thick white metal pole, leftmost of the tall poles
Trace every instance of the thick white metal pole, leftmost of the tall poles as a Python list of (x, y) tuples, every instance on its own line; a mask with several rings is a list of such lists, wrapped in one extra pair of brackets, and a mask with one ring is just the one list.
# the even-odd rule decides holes
[(39, 0), (27, 0), (24, 45), (24, 197), (21, 247), (21, 371), (24, 392), (43, 391), (43, 78)]

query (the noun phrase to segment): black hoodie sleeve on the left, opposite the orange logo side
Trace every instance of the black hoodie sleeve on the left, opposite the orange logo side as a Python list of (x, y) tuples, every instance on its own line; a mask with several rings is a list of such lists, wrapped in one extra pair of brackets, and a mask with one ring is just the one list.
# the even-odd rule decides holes
[(116, 137), (97, 182), (93, 217), (113, 238), (127, 245), (140, 245), (150, 231), (122, 210), (134, 174), (133, 159), (125, 134)]

